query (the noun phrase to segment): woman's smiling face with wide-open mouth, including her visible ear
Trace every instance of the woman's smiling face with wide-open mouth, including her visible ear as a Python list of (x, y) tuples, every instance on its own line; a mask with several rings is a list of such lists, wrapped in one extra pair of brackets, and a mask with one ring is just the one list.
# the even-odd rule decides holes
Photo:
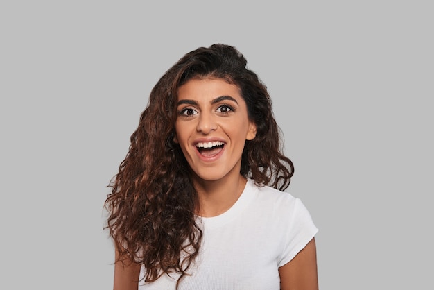
[(256, 125), (236, 85), (220, 78), (192, 79), (178, 89), (176, 135), (195, 178), (239, 176), (245, 140)]

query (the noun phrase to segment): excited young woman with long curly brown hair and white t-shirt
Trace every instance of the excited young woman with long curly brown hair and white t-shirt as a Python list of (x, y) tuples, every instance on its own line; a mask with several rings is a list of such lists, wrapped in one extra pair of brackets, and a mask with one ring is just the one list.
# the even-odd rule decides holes
[(318, 229), (246, 63), (200, 47), (150, 93), (105, 201), (115, 290), (318, 289)]

